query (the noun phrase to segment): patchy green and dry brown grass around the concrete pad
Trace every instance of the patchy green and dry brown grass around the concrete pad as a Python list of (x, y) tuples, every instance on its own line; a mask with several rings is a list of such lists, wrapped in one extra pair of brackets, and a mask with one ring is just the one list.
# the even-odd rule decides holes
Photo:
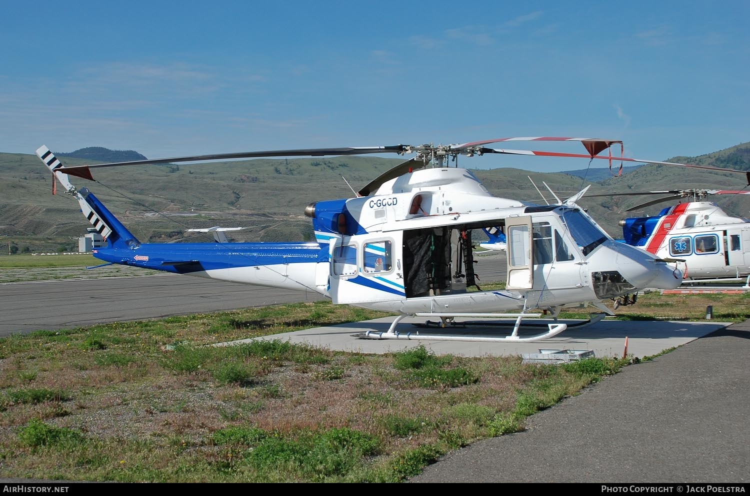
[[(745, 295), (649, 293), (616, 313), (698, 320), (706, 302), (717, 320), (750, 318)], [(3, 474), (398, 483), (449, 451), (522, 431), (529, 415), (639, 361), (524, 364), (423, 346), (356, 354), (275, 339), (211, 346), (383, 315), (321, 301), (0, 339)]]

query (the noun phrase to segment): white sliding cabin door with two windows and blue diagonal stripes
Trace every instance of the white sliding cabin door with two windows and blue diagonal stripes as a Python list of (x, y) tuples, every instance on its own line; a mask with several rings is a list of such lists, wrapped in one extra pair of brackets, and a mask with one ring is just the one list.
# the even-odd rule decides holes
[(331, 244), (333, 303), (403, 300), (401, 232), (344, 236)]

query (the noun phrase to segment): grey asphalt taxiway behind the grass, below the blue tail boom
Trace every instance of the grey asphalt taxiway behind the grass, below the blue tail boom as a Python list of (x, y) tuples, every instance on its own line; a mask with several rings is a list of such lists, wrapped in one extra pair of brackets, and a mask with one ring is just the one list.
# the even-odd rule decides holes
[(157, 273), (0, 284), (0, 337), (203, 312), (323, 300), (314, 291)]

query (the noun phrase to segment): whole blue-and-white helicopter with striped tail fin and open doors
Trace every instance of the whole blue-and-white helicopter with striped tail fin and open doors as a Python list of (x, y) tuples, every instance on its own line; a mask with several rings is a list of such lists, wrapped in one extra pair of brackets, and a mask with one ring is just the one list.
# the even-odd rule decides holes
[[(485, 145), (505, 141), (580, 142), (588, 154), (502, 150)], [(554, 336), (568, 325), (561, 309), (604, 305), (645, 288), (676, 288), (682, 272), (662, 258), (613, 240), (576, 204), (586, 189), (566, 202), (536, 205), (491, 195), (467, 169), (449, 160), (484, 154), (539, 154), (607, 159), (599, 155), (614, 140), (588, 138), (502, 138), (458, 145), (395, 145), (371, 148), (311, 148), (173, 157), (89, 166), (63, 166), (46, 146), (40, 160), (106, 239), (95, 257), (112, 264), (145, 267), (210, 279), (278, 288), (307, 289), (333, 303), (395, 312), (385, 333), (371, 339), (455, 339), (514, 342)], [(314, 242), (151, 244), (133, 236), (87, 188), (70, 176), (93, 180), (92, 169), (154, 163), (198, 162), (257, 157), (323, 157), (361, 154), (414, 154), (352, 198), (313, 202), (305, 208)], [(611, 153), (608, 157), (611, 160)], [(618, 159), (619, 160), (619, 157)], [(611, 163), (610, 163), (611, 168)], [(55, 184), (55, 181), (53, 181)], [(481, 291), (474, 272), (471, 233), (500, 229), (508, 262), (503, 290)], [(476, 288), (478, 291), (468, 291)], [(523, 318), (552, 318), (532, 336), (519, 333)], [(507, 318), (497, 336), (429, 335), (399, 332), (407, 316)], [(592, 321), (596, 319), (592, 316)], [(511, 329), (512, 326), (512, 330)]]

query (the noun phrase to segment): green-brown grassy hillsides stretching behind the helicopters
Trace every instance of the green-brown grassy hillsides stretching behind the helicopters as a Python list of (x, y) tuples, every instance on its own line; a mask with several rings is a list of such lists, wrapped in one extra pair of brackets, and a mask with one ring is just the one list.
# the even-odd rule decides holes
[[(750, 143), (745, 143), (700, 157), (673, 157), (665, 161), (711, 166), (731, 162), (739, 167), (741, 157), (748, 156)], [(68, 157), (65, 164), (129, 160), (121, 155), (107, 157)], [(347, 181), (357, 190), (402, 161), (400, 158), (352, 156), (239, 160), (179, 167), (133, 166), (98, 169), (97, 183), (76, 180), (74, 184), (89, 187), (144, 242), (207, 241), (202, 234), (188, 238), (184, 231), (211, 226), (247, 228), (232, 232), (233, 241), (304, 241), (313, 238), (311, 223), (303, 214), (306, 205), (350, 198), (353, 193)], [(604, 172), (605, 178), (595, 180), (598, 176), (592, 175), (592, 171)], [(669, 205), (654, 205), (646, 211), (628, 213), (628, 208), (652, 197), (615, 196), (614, 193), (745, 187), (742, 175), (732, 173), (656, 165), (625, 168), (624, 171), (621, 177), (613, 177), (607, 168), (589, 169), (584, 181), (571, 171), (472, 169), (493, 195), (526, 202), (545, 202), (534, 186), (542, 189), (542, 182), (560, 199), (574, 195), (589, 184), (587, 195), (611, 193), (612, 196), (583, 196), (579, 204), (614, 238), (622, 235), (618, 226), (622, 218), (653, 215)], [(16, 244), (20, 251), (28, 247), (32, 252), (77, 248), (77, 237), (89, 226), (73, 199), (62, 194), (59, 188), (56, 196), (51, 195), (50, 179), (49, 172), (35, 155), (0, 153), (0, 240), (3, 244)], [(548, 191), (543, 190), (543, 193), (547, 201), (552, 199)], [(730, 214), (748, 216), (750, 199), (747, 196), (717, 196), (711, 200)]]

